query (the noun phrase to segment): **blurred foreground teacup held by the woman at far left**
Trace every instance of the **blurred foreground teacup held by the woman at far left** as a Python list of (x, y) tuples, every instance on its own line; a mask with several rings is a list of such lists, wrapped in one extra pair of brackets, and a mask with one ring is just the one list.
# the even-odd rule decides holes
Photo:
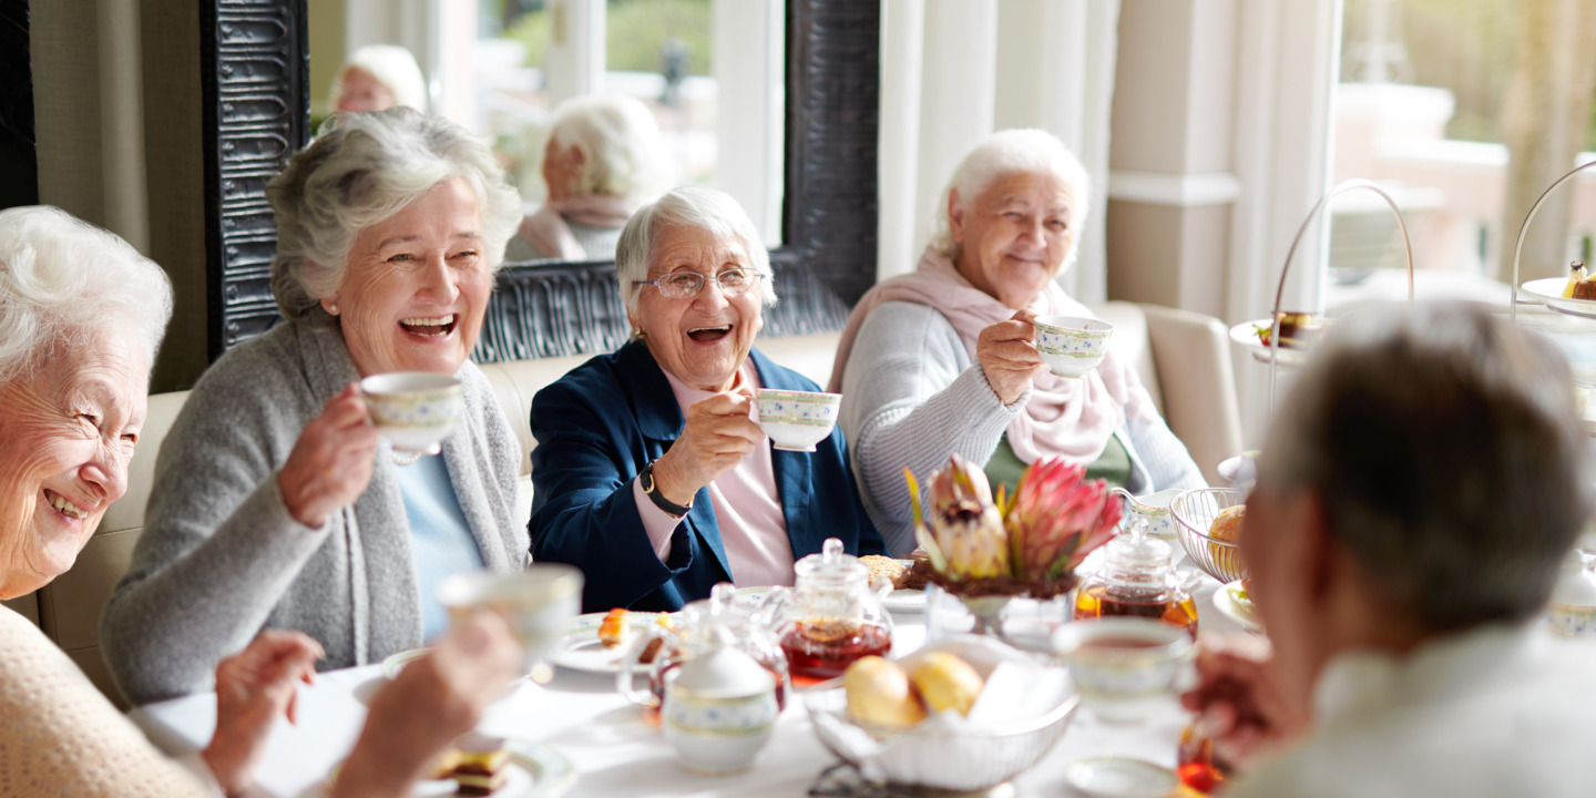
[(531, 667), (570, 632), (583, 602), (583, 571), (557, 562), (535, 562), (523, 571), (456, 573), (437, 587), (450, 618), (492, 610), (504, 618)]

